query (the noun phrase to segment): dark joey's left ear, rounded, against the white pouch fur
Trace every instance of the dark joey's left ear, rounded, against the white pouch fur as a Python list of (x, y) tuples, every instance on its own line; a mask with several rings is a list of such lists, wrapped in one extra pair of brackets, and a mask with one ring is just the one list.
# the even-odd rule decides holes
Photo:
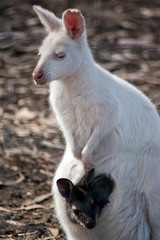
[(60, 178), (57, 180), (57, 187), (62, 197), (68, 199), (73, 190), (74, 185), (69, 179)]

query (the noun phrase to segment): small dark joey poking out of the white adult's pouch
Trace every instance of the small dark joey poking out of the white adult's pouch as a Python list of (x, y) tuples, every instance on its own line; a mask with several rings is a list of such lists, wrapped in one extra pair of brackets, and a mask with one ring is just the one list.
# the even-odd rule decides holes
[(114, 181), (110, 175), (94, 176), (92, 169), (76, 185), (69, 179), (60, 178), (57, 180), (57, 187), (66, 200), (69, 219), (91, 229), (96, 226), (101, 210), (109, 202)]

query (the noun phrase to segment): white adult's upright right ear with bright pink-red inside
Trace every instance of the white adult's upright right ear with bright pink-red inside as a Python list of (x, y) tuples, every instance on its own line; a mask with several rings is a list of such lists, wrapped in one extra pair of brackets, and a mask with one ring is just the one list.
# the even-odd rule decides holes
[(79, 10), (66, 10), (63, 21), (72, 39), (78, 39), (84, 32), (84, 18)]

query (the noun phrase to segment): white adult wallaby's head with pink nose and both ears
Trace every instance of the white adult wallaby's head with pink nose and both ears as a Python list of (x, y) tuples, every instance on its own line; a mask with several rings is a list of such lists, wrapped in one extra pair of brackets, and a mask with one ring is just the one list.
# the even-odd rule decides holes
[(84, 60), (84, 45), (87, 45), (81, 12), (68, 9), (60, 19), (40, 6), (33, 8), (48, 32), (39, 48), (40, 59), (33, 72), (35, 83), (43, 85), (75, 75)]

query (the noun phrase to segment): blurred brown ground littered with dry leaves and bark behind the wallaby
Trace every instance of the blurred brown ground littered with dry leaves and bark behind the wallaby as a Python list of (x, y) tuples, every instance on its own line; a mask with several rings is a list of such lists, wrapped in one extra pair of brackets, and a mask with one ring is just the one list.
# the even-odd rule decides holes
[(160, 112), (160, 1), (0, 1), (0, 239), (63, 240), (51, 183), (64, 141), (48, 86), (31, 77), (46, 34), (33, 4), (59, 17), (79, 8), (95, 60), (145, 92)]

